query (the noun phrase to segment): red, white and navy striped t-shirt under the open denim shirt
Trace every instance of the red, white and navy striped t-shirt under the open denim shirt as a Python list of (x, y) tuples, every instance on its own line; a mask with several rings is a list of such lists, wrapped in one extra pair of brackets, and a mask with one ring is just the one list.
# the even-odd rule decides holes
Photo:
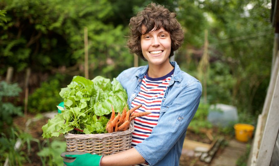
[[(140, 93), (132, 101), (132, 107), (142, 104), (135, 112), (152, 112), (144, 117), (134, 119), (134, 132), (132, 135), (132, 147), (149, 137), (153, 127), (158, 123), (161, 103), (169, 85), (174, 69), (160, 78), (150, 78), (147, 73), (142, 79)], [(140, 164), (146, 165), (146, 164)]]

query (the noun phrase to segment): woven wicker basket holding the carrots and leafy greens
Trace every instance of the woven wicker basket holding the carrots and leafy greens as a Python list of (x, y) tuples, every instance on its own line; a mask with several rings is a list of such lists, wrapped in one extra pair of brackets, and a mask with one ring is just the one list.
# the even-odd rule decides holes
[(71, 134), (66, 133), (67, 152), (80, 151), (98, 155), (119, 153), (131, 148), (134, 121), (129, 130), (105, 134)]

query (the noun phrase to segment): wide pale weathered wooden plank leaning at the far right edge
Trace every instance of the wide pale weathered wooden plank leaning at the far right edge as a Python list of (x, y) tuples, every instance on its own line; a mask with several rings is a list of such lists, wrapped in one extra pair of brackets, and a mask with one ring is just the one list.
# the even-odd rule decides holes
[[(278, 59), (278, 57), (277, 57)], [(267, 116), (265, 130), (261, 139), (261, 146), (256, 166), (269, 166), (271, 156), (279, 131), (279, 73), (277, 72), (274, 94), (272, 96), (270, 110)]]

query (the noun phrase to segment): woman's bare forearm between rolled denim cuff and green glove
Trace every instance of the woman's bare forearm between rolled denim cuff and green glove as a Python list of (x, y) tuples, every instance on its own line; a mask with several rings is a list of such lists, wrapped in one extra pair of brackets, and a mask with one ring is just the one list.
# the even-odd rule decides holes
[(104, 156), (100, 166), (129, 166), (141, 163), (145, 163), (145, 159), (135, 148), (131, 148), (124, 152)]

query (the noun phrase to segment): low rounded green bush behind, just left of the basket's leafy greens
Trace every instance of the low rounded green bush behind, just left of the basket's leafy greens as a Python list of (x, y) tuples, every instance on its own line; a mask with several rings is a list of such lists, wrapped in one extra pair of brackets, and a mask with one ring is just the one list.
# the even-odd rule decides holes
[(42, 82), (41, 86), (36, 89), (28, 98), (28, 112), (39, 113), (57, 110), (58, 105), (63, 99), (59, 96), (59, 80)]

